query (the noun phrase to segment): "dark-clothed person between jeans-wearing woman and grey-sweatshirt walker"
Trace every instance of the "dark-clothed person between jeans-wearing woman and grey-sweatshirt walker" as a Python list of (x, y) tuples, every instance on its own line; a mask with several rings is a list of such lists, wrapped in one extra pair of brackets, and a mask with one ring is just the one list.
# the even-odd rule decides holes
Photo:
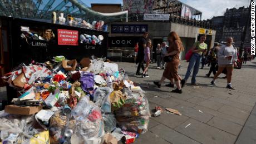
[(217, 67), (217, 56), (218, 56), (218, 49), (219, 49), (219, 43), (214, 43), (214, 47), (210, 49), (209, 52), (209, 59), (211, 63), (211, 67), (209, 72), (205, 75), (206, 77), (210, 77), (211, 72), (213, 72), (213, 75), (216, 74), (216, 67)]

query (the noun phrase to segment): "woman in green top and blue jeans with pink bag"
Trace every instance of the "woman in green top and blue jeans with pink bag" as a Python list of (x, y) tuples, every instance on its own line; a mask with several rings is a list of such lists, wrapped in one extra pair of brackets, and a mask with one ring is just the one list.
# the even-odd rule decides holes
[(192, 69), (193, 69), (193, 74), (191, 78), (191, 85), (198, 86), (198, 84), (196, 84), (195, 77), (199, 71), (200, 61), (202, 58), (201, 56), (207, 50), (207, 44), (204, 43), (205, 39), (206, 39), (206, 35), (203, 34), (203, 36), (201, 36), (200, 38), (200, 41), (196, 42), (192, 47), (193, 54), (190, 58), (189, 66), (188, 66), (188, 70), (186, 71), (185, 78), (184, 80), (181, 81), (182, 87), (185, 86), (186, 81), (189, 79)]

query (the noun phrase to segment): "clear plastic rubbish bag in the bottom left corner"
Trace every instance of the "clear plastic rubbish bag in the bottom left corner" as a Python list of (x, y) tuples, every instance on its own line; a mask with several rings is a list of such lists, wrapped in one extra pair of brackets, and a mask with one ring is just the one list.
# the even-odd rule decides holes
[[(37, 143), (46, 143), (40, 138), (34, 137), (38, 132), (45, 131), (41, 127), (37, 127), (34, 116), (7, 115), (0, 117), (0, 121), (3, 143), (30, 144), (31, 138)], [(4, 133), (5, 136), (3, 136)]]

